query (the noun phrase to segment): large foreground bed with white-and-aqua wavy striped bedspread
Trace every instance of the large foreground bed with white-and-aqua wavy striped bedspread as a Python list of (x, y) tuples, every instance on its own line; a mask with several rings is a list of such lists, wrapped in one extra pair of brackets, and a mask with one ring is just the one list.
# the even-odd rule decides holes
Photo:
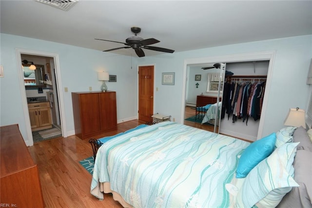
[[(103, 200), (103, 192), (113, 193), (114, 199), (123, 207), (136, 208), (248, 207), (251, 204), (250, 207), (261, 207), (259, 201), (268, 193), (262, 193), (262, 190), (254, 193), (256, 198), (251, 202), (251, 193), (246, 193), (250, 180), (255, 181), (252, 176), (261, 174), (257, 170), (251, 174), (253, 168), (247, 177), (236, 177), (240, 158), (250, 146), (242, 140), (174, 122), (148, 125), (99, 147), (91, 194)], [(295, 147), (288, 146), (287, 152)], [(294, 154), (291, 157), (293, 160)], [(264, 165), (276, 161), (273, 158)], [(256, 166), (260, 164), (262, 162)], [(287, 178), (288, 186), (297, 186), (290, 178)], [(274, 207), (277, 204), (275, 202)]]

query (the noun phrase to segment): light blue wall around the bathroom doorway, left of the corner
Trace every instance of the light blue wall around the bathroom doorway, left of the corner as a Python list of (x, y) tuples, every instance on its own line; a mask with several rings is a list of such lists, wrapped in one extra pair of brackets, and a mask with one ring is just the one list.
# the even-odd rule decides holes
[[(74, 131), (71, 92), (99, 91), (97, 71), (105, 70), (117, 75), (117, 82), (107, 82), (108, 89), (117, 92), (117, 119), (137, 115), (137, 58), (103, 53), (55, 42), (0, 34), (0, 64), (4, 78), (0, 78), (0, 125), (19, 124), (25, 140), (28, 140), (21, 103), (19, 68), (16, 63), (16, 48), (59, 54), (61, 85), (68, 87), (63, 92), (67, 132)], [(131, 63), (133, 65), (131, 69)]]

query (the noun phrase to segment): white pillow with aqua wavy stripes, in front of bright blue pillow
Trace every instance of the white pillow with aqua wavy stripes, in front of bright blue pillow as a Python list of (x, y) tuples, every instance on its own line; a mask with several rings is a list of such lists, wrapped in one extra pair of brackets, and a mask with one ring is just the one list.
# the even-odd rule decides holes
[(276, 207), (292, 187), (299, 185), (293, 180), (292, 166), (299, 143), (286, 143), (255, 166), (247, 175), (236, 197), (236, 207)]

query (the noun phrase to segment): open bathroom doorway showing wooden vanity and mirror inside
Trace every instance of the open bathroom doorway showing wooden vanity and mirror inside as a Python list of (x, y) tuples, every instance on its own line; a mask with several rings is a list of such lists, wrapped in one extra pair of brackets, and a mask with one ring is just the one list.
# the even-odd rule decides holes
[(21, 54), (21, 60), (34, 143), (62, 136), (54, 59)]

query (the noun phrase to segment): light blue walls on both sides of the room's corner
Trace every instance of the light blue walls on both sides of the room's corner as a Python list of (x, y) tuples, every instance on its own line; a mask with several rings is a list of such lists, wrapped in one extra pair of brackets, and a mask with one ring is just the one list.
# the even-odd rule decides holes
[[(0, 64), (4, 78), (0, 78), (0, 125), (18, 123), (23, 137), (26, 129), (21, 106), (18, 83), (18, 67), (15, 48), (46, 51), (59, 54), (61, 84), (68, 87), (63, 92), (67, 131), (74, 130), (72, 100), (70, 92), (88, 91), (89, 86), (99, 89), (97, 80), (99, 67), (117, 75), (117, 83), (108, 83), (109, 90), (117, 91), (117, 119), (137, 116), (137, 64), (155, 64), (154, 111), (170, 114), (180, 121), (184, 60), (192, 58), (225, 56), (232, 54), (276, 51), (273, 79), (269, 92), (264, 135), (283, 127), (290, 107), (306, 108), (308, 88), (305, 83), (312, 58), (312, 36), (248, 42), (214, 48), (199, 49), (174, 54), (134, 58), (113, 53), (103, 53), (66, 44), (29, 39), (1, 34)], [(175, 85), (161, 85), (162, 72), (175, 72)], [(202, 77), (203, 79), (203, 77)]]

